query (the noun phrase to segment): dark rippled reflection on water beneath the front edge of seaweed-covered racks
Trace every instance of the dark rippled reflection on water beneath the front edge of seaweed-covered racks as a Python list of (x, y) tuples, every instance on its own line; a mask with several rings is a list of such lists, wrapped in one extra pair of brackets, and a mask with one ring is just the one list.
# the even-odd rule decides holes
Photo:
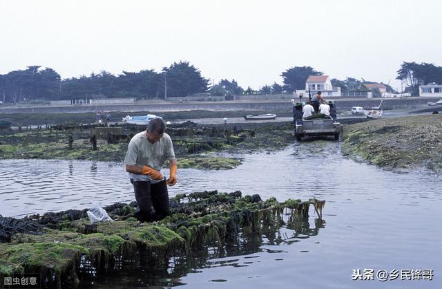
[[(189, 273), (198, 273), (209, 268), (247, 268), (253, 263), (263, 260), (260, 256), (251, 256), (257, 253), (279, 254), (284, 250), (272, 250), (269, 245), (289, 245), (300, 239), (316, 236), (325, 221), (314, 219), (315, 227), (310, 228), (308, 218), (293, 218), (285, 214), (283, 225), (277, 230), (262, 227), (261, 232), (244, 232), (235, 241), (212, 247), (211, 245), (193, 248), (188, 255), (183, 251), (170, 252), (159, 257), (152, 257), (151, 250), (138, 250), (131, 254), (132, 259), (122, 257), (113, 262), (112, 268), (94, 268), (90, 261), (83, 259), (81, 263), (81, 286), (79, 288), (106, 288), (112, 284), (113, 288), (168, 288), (186, 285), (182, 276)], [(235, 258), (243, 256), (240, 258)], [(232, 258), (233, 257), (233, 258)], [(283, 260), (283, 259), (276, 259)], [(95, 277), (96, 273), (97, 277)], [(211, 282), (225, 282), (228, 279), (211, 279)], [(98, 284), (98, 285), (97, 285)]]

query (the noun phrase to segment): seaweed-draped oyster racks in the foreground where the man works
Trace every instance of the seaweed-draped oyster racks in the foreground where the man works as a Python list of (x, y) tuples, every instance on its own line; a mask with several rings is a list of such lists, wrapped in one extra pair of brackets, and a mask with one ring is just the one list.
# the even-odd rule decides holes
[[(170, 216), (144, 224), (134, 218), (135, 203), (104, 207), (115, 221), (95, 224), (86, 219), (86, 209), (22, 219), (0, 216), (0, 274), (39, 272), (45, 287), (75, 287), (78, 274), (121, 268), (136, 263), (140, 254), (152, 265), (203, 248), (228, 250), (253, 236), (276, 234), (283, 225), (295, 234), (314, 235), (323, 224), (325, 201), (280, 203), (262, 201), (259, 195), (242, 197), (239, 191), (212, 191), (177, 195), (170, 204)], [(308, 225), (309, 205), (317, 214), (315, 229)]]

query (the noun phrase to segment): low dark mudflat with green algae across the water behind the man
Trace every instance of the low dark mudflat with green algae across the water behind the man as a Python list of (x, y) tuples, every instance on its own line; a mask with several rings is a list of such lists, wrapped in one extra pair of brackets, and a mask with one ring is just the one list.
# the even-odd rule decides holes
[[(58, 123), (61, 120), (57, 120)], [(99, 136), (99, 133), (102, 136)], [(129, 140), (144, 127), (134, 124), (58, 124), (0, 133), (1, 159), (62, 159), (122, 162)], [(106, 133), (107, 132), (107, 133)], [(240, 159), (231, 153), (274, 151), (293, 142), (290, 122), (262, 124), (171, 124), (178, 166), (196, 169), (232, 169)], [(97, 136), (97, 149), (91, 138)], [(272, 137), (269, 138), (269, 135)]]

